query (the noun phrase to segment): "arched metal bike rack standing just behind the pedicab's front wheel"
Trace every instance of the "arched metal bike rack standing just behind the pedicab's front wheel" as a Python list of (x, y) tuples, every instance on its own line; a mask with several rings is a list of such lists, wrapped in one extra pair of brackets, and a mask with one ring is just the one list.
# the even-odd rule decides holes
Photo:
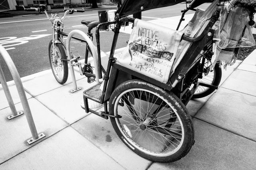
[[(72, 76), (72, 81), (73, 81), (73, 86), (74, 86), (74, 90), (71, 90), (70, 92), (76, 92), (78, 90), (80, 90), (81, 88), (78, 88), (77, 85), (76, 85), (76, 77), (75, 77), (75, 74), (74, 74), (74, 68), (72, 66), (72, 62), (76, 59), (72, 59), (71, 55), (70, 55), (70, 41), (72, 39), (72, 36), (75, 35), (75, 34), (79, 34), (81, 35), (85, 40), (86, 42), (88, 43), (91, 51), (92, 51), (92, 56), (93, 56), (93, 60), (94, 60), (94, 69), (95, 69), (95, 75), (96, 75), (96, 83), (99, 83), (99, 78), (100, 78), (100, 66), (99, 66), (99, 63), (98, 63), (98, 55), (96, 53), (96, 50), (94, 48), (94, 45), (92, 43), (92, 40), (86, 35), (86, 33), (84, 33), (83, 31), (80, 31), (80, 30), (73, 30), (71, 31), (69, 34), (68, 34), (68, 37), (67, 37), (67, 40), (66, 40), (66, 50), (67, 50), (67, 55), (68, 55), (68, 60), (69, 60), (69, 68), (70, 68), (70, 72), (71, 72), (71, 76)], [(95, 57), (94, 57), (95, 56)]]

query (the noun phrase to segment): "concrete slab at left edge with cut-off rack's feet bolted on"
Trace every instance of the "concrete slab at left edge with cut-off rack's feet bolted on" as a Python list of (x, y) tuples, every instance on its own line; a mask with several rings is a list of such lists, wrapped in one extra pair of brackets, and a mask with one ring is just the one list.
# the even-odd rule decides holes
[[(59, 119), (36, 99), (29, 99), (28, 104), (37, 132), (38, 134), (43, 132), (46, 135), (44, 138), (48, 138), (50, 135), (53, 135), (67, 126), (64, 121)], [(15, 107), (18, 110), (23, 110), (21, 103), (16, 104)], [(32, 134), (25, 115), (8, 120), (7, 116), (9, 115), (10, 107), (0, 110), (0, 163), (40, 142), (38, 141), (32, 145), (27, 144), (26, 141), (32, 138)]]

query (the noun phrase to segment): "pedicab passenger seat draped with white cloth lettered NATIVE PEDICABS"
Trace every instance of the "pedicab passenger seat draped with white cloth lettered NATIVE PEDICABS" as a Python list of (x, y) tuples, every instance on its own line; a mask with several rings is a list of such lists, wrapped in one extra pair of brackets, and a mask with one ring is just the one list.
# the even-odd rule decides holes
[[(194, 27), (189, 37), (182, 36), (188, 26), (175, 31), (136, 19), (128, 45), (122, 53), (115, 55), (116, 64), (161, 84), (166, 84), (174, 72), (175, 77), (178, 76), (178, 67), (178, 72), (185, 74), (206, 43), (202, 39), (216, 21), (209, 20), (216, 11), (215, 6), (216, 3), (212, 3), (208, 10), (196, 11), (192, 19)], [(209, 24), (211, 21), (213, 23)], [(213, 34), (214, 31), (211, 35)]]

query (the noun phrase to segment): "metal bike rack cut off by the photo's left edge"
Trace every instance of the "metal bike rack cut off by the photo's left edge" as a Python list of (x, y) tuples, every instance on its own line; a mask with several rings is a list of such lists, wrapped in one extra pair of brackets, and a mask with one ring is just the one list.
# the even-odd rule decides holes
[[(45, 137), (45, 135), (44, 135), (44, 133), (40, 133), (38, 135), (38, 133), (36, 131), (36, 126), (35, 126), (31, 111), (30, 111), (30, 107), (28, 105), (28, 100), (26, 98), (26, 94), (25, 94), (22, 82), (20, 80), (20, 75), (19, 75), (19, 73), (17, 71), (17, 68), (14, 65), (10, 55), (8, 54), (8, 52), (6, 51), (6, 49), (2, 45), (0, 45), (0, 54), (2, 55), (4, 61), (6, 62), (8, 68), (9, 68), (11, 74), (12, 74), (12, 78), (14, 80), (14, 83), (15, 83), (16, 88), (18, 90), (18, 94), (20, 96), (20, 101), (21, 101), (22, 107), (24, 109), (24, 113), (26, 115), (26, 119), (28, 121), (28, 125), (29, 125), (29, 128), (30, 128), (31, 134), (32, 134), (32, 138), (27, 140), (27, 143), (30, 145), (30, 144), (42, 139), (43, 137)], [(5, 96), (8, 100), (8, 104), (9, 104), (10, 109), (11, 109), (12, 114), (13, 114), (13, 115), (8, 116), (7, 118), (10, 120), (10, 119), (13, 119), (13, 118), (15, 118), (19, 115), (22, 115), (23, 114), (22, 111), (20, 111), (18, 113), (16, 111), (16, 108), (14, 106), (14, 102), (12, 100), (12, 96), (10, 94), (10, 90), (8, 88), (6, 79), (4, 77), (4, 73), (3, 73), (1, 65), (0, 65), (0, 82), (2, 84), (2, 87), (4, 89), (4, 94), (5, 94)]]

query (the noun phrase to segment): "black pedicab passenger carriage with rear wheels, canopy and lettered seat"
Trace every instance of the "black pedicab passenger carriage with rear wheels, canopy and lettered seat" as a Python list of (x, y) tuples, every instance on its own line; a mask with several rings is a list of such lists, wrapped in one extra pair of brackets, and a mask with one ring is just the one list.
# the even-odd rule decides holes
[[(84, 109), (109, 117), (121, 141), (154, 162), (174, 162), (188, 154), (195, 141), (186, 105), (214, 92), (221, 79), (220, 65), (233, 64), (240, 47), (255, 45), (251, 28), (256, 0), (193, 0), (182, 11), (180, 23), (188, 10), (195, 14), (180, 31), (180, 23), (173, 30), (128, 17), (180, 2), (184, 0), (124, 0), (114, 21), (89, 25), (96, 27), (98, 83), (83, 92)], [(195, 9), (206, 2), (206, 10)], [(132, 24), (130, 39), (115, 54), (126, 23)], [(111, 24), (114, 37), (102, 76), (100, 28)], [(88, 101), (103, 104), (104, 111), (89, 108)]]

